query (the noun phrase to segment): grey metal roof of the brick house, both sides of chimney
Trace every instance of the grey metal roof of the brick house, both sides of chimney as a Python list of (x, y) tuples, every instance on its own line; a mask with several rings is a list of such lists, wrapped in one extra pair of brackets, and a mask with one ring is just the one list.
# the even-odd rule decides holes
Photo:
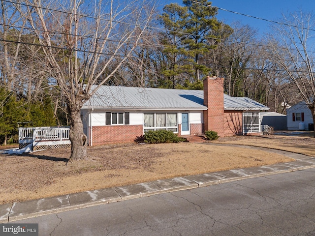
[[(202, 90), (153, 89), (102, 86), (82, 109), (132, 110), (207, 110)], [(268, 110), (269, 108), (245, 97), (224, 94), (225, 110)]]

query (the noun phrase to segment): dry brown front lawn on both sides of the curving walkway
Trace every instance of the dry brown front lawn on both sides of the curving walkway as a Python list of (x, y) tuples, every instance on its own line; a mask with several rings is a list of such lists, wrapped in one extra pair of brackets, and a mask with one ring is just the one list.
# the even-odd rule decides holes
[[(310, 156), (315, 145), (314, 138), (275, 136), (238, 136), (216, 142), (285, 149)], [(0, 204), (292, 161), (265, 151), (198, 143), (105, 145), (88, 148), (88, 152), (89, 161), (68, 165), (70, 149), (0, 155)]]

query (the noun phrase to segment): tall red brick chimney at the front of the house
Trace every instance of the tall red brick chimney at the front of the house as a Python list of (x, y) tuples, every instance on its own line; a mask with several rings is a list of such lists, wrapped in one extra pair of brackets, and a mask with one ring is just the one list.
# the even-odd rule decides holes
[(208, 76), (203, 81), (203, 104), (208, 107), (203, 112), (204, 130), (213, 130), (224, 136), (223, 78)]

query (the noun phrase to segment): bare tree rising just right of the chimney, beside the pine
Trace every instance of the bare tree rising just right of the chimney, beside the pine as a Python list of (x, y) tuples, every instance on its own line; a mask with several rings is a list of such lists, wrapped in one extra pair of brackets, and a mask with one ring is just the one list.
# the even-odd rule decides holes
[[(221, 42), (208, 39), (210, 45), (216, 45), (210, 51), (209, 61), (213, 65), (213, 73), (225, 76), (225, 90), (230, 96), (246, 95), (246, 78), (251, 71), (247, 69), (253, 57), (253, 46), (256, 31), (249, 26), (233, 23), (221, 31)], [(256, 48), (255, 48), (256, 50)]]

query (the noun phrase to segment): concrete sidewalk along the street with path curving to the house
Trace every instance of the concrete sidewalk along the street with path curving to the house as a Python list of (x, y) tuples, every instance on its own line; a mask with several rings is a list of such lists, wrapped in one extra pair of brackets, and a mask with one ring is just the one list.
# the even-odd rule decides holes
[[(204, 144), (214, 145), (209, 143)], [(315, 168), (315, 158), (310, 156), (269, 148), (240, 145), (228, 146), (264, 150), (270, 153), (277, 153), (294, 158), (295, 161), (269, 166), (251, 167), (246, 169), (220, 171), (202, 175), (162, 179), (123, 187), (99, 189), (94, 191), (67, 194), (59, 197), (0, 205), (0, 223), (7, 223), (105, 203), (119, 202), (127, 199), (145, 197), (159, 193), (192, 189), (245, 178)]]

